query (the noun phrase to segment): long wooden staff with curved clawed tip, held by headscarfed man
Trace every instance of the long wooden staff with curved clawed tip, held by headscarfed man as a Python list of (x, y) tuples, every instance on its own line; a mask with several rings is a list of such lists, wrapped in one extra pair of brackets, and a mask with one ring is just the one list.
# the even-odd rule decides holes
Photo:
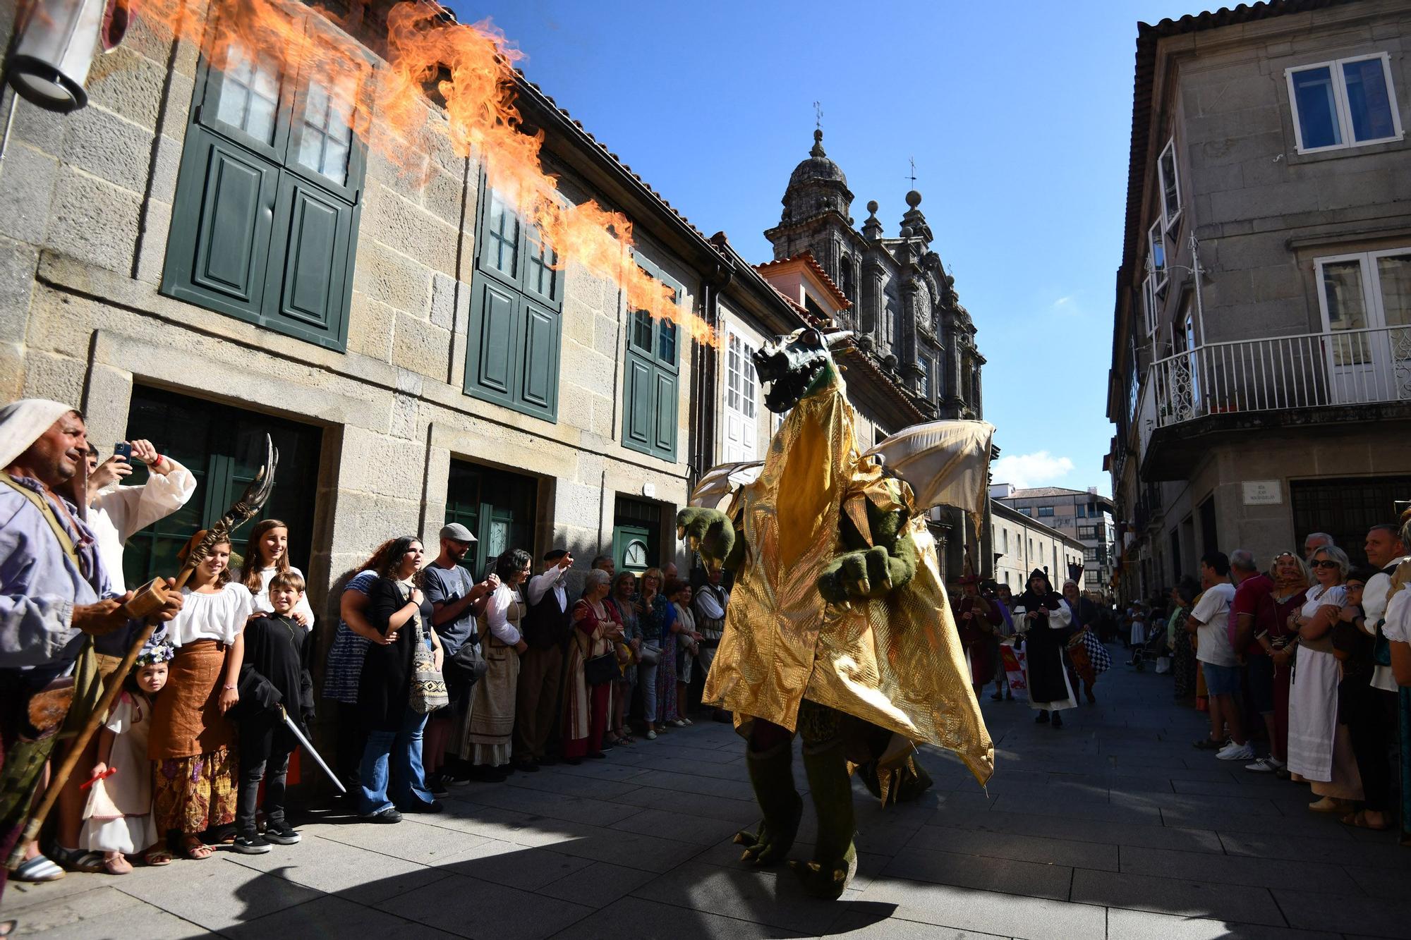
[[(143, 617), (143, 627), (137, 631), (137, 637), (133, 641), (133, 646), (123, 656), (121, 665), (117, 668), (119, 676), (126, 676), (133, 670), (133, 663), (137, 662), (138, 653), (143, 652), (143, 646), (147, 641), (152, 638), (152, 631), (157, 629), (157, 621), (152, 615), (159, 611), (166, 603), (166, 594), (169, 591), (179, 591), (185, 587), (186, 582), (196, 572), (196, 566), (200, 565), (210, 549), (220, 542), (229, 542), (231, 534), (241, 525), (253, 519), (260, 510), (264, 507), (265, 501), (270, 498), (270, 493), (274, 491), (274, 471), (279, 464), (279, 452), (274, 447), (274, 440), (270, 435), (265, 435), (265, 463), (260, 467), (260, 473), (255, 478), (250, 481), (246, 491), (240, 495), (236, 502), (226, 510), (224, 515), (206, 531), (206, 536), (196, 543), (196, 548), (190, 550), (182, 565), (181, 572), (172, 579), (172, 583), (164, 584), (162, 579), (157, 579), (150, 584), (144, 586), (137, 594), (128, 601), (128, 610), (137, 607), (137, 601), (144, 601), (141, 604), (140, 613)], [(73, 768), (78, 765), (79, 758), (83, 757), (83, 751), (87, 749), (87, 742), (97, 733), (100, 724), (107, 717), (109, 710), (111, 710), (113, 703), (117, 701), (117, 696), (123, 692), (121, 682), (111, 682), (103, 692), (103, 697), (99, 700), (97, 706), (93, 709), (93, 714), (87, 717), (83, 727), (69, 742), (68, 754), (63, 757), (63, 764), (58, 766), (54, 772), (54, 778), (49, 781), (49, 788), (44, 793), (44, 800), (40, 802), (38, 809), (25, 823), (24, 831), (20, 838), (14, 843), (14, 850), (10, 857), (6, 858), (6, 867), (10, 871), (18, 868), (20, 862), (24, 861), (24, 847), (40, 837), (40, 830), (44, 827), (44, 820), (48, 817), (49, 810), (59, 799), (59, 792), (63, 790), (63, 785), (68, 782), (69, 776), (73, 773)]]

